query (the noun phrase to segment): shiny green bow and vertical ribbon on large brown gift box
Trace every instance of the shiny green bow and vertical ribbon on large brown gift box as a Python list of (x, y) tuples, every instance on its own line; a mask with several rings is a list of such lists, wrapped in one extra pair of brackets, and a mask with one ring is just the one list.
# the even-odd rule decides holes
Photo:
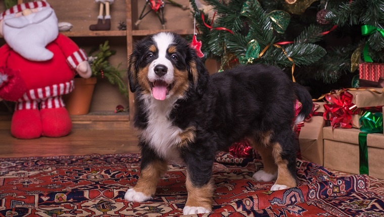
[(362, 125), (360, 127), (362, 132), (359, 133), (359, 169), (360, 174), (369, 175), (367, 135), (369, 133), (382, 133), (382, 114), (365, 112), (359, 121)]

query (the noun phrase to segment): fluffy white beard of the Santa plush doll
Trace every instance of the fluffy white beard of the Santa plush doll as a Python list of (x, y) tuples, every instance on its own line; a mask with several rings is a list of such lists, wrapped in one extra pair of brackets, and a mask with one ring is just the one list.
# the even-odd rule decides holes
[[(52, 11), (49, 11), (52, 10)], [(58, 20), (53, 9), (37, 12), (24, 17), (4, 20), (3, 33), (7, 44), (22, 57), (31, 61), (47, 61), (54, 56), (45, 46), (55, 40), (59, 34)], [(34, 19), (35, 18), (35, 19)], [(16, 21), (17, 19), (17, 21)], [(16, 21), (16, 22), (15, 22)]]

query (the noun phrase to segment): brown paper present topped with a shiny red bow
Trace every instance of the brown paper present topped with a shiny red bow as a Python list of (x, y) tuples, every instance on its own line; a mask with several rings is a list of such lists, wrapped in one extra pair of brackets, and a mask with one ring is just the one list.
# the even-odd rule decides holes
[(333, 128), (360, 128), (358, 119), (365, 111), (384, 105), (382, 88), (343, 89), (325, 94), (323, 118), (331, 122)]

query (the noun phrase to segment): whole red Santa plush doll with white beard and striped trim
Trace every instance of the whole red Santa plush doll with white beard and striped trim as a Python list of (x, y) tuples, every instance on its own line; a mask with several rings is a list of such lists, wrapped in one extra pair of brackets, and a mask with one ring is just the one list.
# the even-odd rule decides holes
[(58, 19), (44, 1), (19, 4), (0, 15), (0, 98), (16, 101), (11, 133), (16, 138), (68, 135), (72, 122), (62, 95), (73, 78), (91, 76), (87, 56), (59, 33)]

